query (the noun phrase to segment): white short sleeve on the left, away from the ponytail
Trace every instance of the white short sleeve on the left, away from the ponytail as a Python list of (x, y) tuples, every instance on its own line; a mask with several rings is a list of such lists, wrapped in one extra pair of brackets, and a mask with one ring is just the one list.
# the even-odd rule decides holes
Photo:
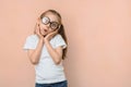
[(27, 51), (28, 49), (36, 49), (38, 44), (37, 35), (31, 35), (26, 38), (23, 49)]

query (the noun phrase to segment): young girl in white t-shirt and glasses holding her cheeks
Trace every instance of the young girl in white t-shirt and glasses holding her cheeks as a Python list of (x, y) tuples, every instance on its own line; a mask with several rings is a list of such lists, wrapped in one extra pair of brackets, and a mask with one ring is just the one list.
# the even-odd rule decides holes
[(38, 17), (34, 35), (26, 38), (24, 49), (35, 65), (35, 87), (68, 87), (62, 66), (67, 37), (57, 11), (48, 10)]

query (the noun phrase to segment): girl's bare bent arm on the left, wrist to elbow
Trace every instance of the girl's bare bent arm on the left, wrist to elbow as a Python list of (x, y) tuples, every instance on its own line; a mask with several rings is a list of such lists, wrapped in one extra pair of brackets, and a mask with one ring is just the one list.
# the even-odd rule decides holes
[(28, 55), (32, 64), (37, 64), (38, 63), (43, 46), (44, 46), (44, 40), (39, 39), (36, 49), (35, 50), (29, 49), (27, 51), (27, 55)]

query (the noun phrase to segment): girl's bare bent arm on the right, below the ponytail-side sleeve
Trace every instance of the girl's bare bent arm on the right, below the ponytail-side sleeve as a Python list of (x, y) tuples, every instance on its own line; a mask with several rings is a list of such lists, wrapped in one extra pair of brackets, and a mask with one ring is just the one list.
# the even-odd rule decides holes
[(62, 47), (53, 49), (48, 40), (45, 40), (45, 45), (55, 63), (59, 64), (62, 60)]

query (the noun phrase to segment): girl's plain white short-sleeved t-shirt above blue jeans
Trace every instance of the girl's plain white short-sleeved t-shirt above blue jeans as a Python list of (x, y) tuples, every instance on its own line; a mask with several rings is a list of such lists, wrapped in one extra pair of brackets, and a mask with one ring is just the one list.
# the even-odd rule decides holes
[[(31, 35), (26, 38), (26, 42), (24, 45), (24, 50), (36, 49), (38, 44), (38, 36)], [(62, 46), (62, 48), (67, 48), (67, 44), (61, 37), (61, 35), (56, 35), (50, 41), (52, 48), (57, 48)], [(66, 80), (64, 70), (62, 65), (62, 61), (60, 64), (56, 65), (52, 58), (49, 55), (46, 46), (44, 45), (40, 59), (38, 64), (35, 65), (36, 71), (36, 83), (39, 84), (51, 84)]]

